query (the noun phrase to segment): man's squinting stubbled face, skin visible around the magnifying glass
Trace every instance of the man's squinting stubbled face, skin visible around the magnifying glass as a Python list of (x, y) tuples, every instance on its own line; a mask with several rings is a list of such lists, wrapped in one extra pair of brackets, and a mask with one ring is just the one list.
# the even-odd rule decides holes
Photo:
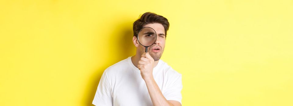
[[(157, 33), (157, 40), (152, 46), (148, 47), (148, 53), (152, 56), (152, 58), (155, 61), (158, 61), (161, 58), (165, 48), (165, 43), (166, 43), (165, 29), (163, 25), (159, 23), (147, 24), (144, 27), (151, 27)], [(145, 52), (145, 47), (142, 45), (139, 45), (138, 49), (140, 49), (141, 54)]]

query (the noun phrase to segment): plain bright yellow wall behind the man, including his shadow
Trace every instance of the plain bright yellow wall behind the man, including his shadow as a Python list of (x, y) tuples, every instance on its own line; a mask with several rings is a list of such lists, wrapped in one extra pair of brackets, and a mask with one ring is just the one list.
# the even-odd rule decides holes
[(0, 105), (92, 105), (145, 12), (169, 19), (184, 106), (293, 105), (293, 0), (1, 0)]

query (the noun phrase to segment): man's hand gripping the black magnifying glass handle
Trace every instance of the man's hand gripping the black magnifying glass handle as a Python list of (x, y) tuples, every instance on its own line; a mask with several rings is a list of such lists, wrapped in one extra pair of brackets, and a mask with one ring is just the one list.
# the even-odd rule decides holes
[(153, 78), (154, 62), (155, 60), (148, 53), (141, 55), (140, 61), (138, 61), (138, 69), (140, 70), (142, 79)]

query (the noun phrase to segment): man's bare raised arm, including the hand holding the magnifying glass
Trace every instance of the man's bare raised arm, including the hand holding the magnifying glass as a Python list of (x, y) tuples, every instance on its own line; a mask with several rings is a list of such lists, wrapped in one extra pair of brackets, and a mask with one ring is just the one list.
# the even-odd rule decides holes
[(152, 75), (153, 65), (154, 59), (148, 53), (142, 54), (141, 60), (138, 61), (138, 69), (141, 70), (141, 77), (145, 80), (153, 105), (181, 106), (179, 101), (166, 100)]

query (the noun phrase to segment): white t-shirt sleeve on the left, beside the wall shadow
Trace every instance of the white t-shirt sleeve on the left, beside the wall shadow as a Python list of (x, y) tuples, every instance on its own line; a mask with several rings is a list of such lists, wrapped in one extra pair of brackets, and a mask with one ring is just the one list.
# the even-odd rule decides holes
[(111, 93), (111, 84), (106, 75), (107, 69), (104, 71), (92, 104), (96, 106), (113, 106), (113, 98)]

